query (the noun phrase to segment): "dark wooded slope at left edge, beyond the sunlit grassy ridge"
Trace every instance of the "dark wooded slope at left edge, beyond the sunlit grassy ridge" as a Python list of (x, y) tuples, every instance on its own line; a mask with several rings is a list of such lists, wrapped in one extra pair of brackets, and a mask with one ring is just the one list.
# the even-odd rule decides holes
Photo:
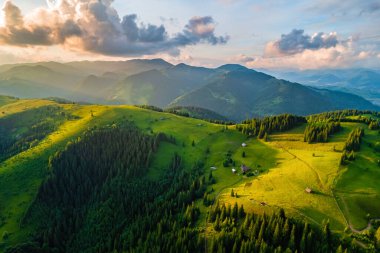
[(0, 118), (0, 161), (38, 144), (73, 116), (58, 106), (44, 106)]

